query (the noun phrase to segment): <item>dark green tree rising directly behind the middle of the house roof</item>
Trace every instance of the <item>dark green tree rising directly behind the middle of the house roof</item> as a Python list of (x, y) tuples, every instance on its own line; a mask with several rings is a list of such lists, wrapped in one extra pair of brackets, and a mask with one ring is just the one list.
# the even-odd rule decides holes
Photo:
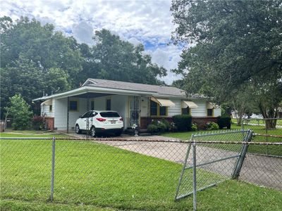
[(109, 30), (95, 32), (94, 41), (91, 53), (84, 46), (87, 62), (96, 68), (87, 72), (90, 73), (88, 77), (94, 75), (102, 79), (160, 84), (157, 76), (166, 75), (166, 70), (152, 63), (151, 57), (144, 53), (142, 44), (133, 46)]

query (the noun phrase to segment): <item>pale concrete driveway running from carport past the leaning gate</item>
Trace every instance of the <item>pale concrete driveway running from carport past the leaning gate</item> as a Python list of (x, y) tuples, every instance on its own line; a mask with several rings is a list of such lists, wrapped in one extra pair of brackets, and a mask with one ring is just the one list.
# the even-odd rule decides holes
[[(179, 139), (164, 136), (121, 136), (116, 139), (115, 141), (103, 140), (96, 142), (178, 163), (184, 162), (185, 155), (188, 151), (188, 143), (180, 143)], [(234, 152), (199, 145), (196, 148), (197, 165), (238, 155), (240, 148), (240, 145), (235, 146), (233, 150), (236, 152)], [(237, 158), (231, 158), (204, 165), (201, 168), (209, 172), (221, 174), (222, 176), (231, 177), (236, 160)], [(192, 150), (188, 157), (189, 165), (192, 165)], [(273, 158), (247, 154), (239, 179), (282, 191), (282, 157)]]

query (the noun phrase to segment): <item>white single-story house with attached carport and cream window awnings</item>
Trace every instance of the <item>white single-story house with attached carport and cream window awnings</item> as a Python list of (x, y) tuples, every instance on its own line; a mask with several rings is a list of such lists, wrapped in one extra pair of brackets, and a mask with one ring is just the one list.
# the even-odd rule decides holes
[(74, 129), (75, 120), (87, 110), (116, 110), (123, 117), (125, 129), (133, 124), (147, 128), (152, 120), (190, 114), (192, 121), (205, 124), (216, 120), (221, 109), (201, 96), (187, 97), (176, 87), (87, 79), (82, 87), (33, 101), (41, 103), (41, 115), (49, 129)]

